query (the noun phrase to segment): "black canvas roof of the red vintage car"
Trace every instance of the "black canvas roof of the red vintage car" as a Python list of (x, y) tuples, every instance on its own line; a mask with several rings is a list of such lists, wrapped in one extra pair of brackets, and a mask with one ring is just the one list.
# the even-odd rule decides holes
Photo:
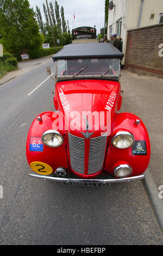
[(74, 58), (123, 58), (124, 54), (117, 50), (114, 45), (104, 42), (88, 42), (83, 44), (70, 44), (62, 48), (53, 56), (57, 59)]

